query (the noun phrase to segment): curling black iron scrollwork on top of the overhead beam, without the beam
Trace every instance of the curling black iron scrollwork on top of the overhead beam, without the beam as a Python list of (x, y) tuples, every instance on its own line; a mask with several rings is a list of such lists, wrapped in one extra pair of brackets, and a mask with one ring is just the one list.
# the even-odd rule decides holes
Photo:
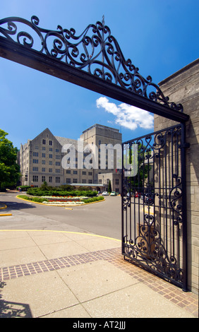
[[(104, 24), (104, 18), (102, 22), (88, 25), (80, 35), (76, 35), (73, 28), (68, 30), (58, 25), (57, 30), (47, 30), (40, 28), (39, 23), (37, 16), (32, 16), (30, 21), (18, 17), (3, 18), (0, 20), (0, 36), (183, 112), (182, 105), (169, 102), (169, 97), (164, 96), (151, 76), (144, 78), (131, 59), (124, 58), (119, 43)], [(26, 31), (19, 30), (21, 25)], [(33, 35), (39, 38), (39, 42)]]

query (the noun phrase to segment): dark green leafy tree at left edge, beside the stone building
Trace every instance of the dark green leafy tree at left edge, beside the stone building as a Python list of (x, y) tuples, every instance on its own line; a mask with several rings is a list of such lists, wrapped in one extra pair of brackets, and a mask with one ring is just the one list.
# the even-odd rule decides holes
[(20, 167), (16, 162), (18, 149), (8, 141), (7, 135), (8, 133), (0, 129), (0, 191), (16, 186), (20, 179)]

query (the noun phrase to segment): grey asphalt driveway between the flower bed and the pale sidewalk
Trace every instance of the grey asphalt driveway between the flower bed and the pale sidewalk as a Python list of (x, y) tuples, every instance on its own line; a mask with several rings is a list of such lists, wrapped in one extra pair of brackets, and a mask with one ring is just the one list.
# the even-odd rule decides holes
[(72, 210), (21, 201), (16, 196), (17, 193), (0, 194), (0, 201), (8, 206), (4, 213), (12, 213), (0, 217), (0, 230), (71, 230), (121, 239), (120, 196), (107, 196), (103, 202)]

